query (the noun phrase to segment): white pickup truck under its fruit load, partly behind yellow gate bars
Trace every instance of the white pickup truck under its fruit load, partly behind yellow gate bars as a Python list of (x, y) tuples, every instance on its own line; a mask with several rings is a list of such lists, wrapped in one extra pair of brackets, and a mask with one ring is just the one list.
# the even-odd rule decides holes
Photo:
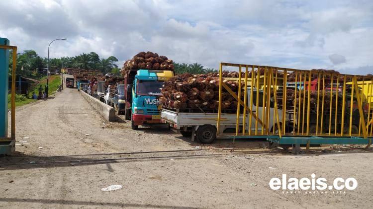
[[(247, 101), (248, 106), (250, 104), (251, 99), (251, 92), (250, 87), (248, 87), (247, 93)], [(258, 113), (256, 112), (256, 89), (253, 89), (253, 113), (257, 115), (257, 117), (263, 121), (262, 112), (263, 112), (263, 91), (259, 90), (259, 105), (258, 105)], [(250, 106), (249, 106), (250, 107)], [(277, 130), (277, 127), (274, 127), (273, 119), (275, 116), (275, 102), (271, 100), (270, 105), (270, 121), (269, 127), (271, 132)], [(241, 107), (242, 109), (242, 107)], [(282, 115), (282, 110), (278, 109), (278, 114)], [(163, 108), (161, 110), (161, 122), (169, 124), (169, 127), (172, 128), (174, 131), (180, 132), (184, 137), (190, 137), (194, 140), (195, 138), (198, 139), (202, 143), (211, 143), (216, 139), (216, 127), (217, 127), (217, 113), (194, 113), (194, 112), (178, 112), (171, 109)], [(243, 114), (240, 116), (241, 126), (240, 132), (242, 132), (242, 117)], [(250, 114), (246, 117), (246, 132), (248, 132), (248, 124), (249, 124), (249, 117)], [(236, 113), (221, 113), (221, 120), (220, 120), (220, 131), (219, 135), (224, 133), (235, 133), (236, 132)], [(281, 117), (279, 118), (280, 124), (282, 123)], [(251, 129), (255, 132), (255, 124), (256, 119), (252, 118)], [(258, 129), (257, 132), (262, 131), (262, 126), (260, 123), (257, 123)]]

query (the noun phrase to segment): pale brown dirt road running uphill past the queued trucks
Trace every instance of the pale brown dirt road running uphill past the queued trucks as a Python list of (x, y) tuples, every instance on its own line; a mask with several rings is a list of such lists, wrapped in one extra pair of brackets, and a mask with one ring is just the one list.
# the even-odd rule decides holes
[[(372, 149), (290, 155), (267, 150), (265, 141), (238, 140), (235, 146), (246, 149), (231, 152), (222, 150), (232, 147), (230, 140), (202, 146), (162, 126), (133, 131), (121, 118), (106, 122), (77, 89), (65, 88), (49, 99), (17, 108), (16, 139), (17, 153), (0, 158), (0, 208), (370, 208), (373, 204)], [(167, 150), (176, 151), (157, 152)], [(153, 152), (144, 153), (148, 151)], [(345, 194), (282, 194), (269, 187), (271, 178), (282, 174), (300, 179), (311, 178), (312, 173), (328, 181), (354, 177), (359, 184), (354, 191), (343, 190)], [(110, 185), (122, 188), (101, 191)]]

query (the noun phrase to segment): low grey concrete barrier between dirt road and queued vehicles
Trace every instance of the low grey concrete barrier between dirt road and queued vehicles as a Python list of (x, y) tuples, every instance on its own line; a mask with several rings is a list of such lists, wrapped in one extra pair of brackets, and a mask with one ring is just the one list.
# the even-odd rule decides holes
[(115, 110), (84, 91), (79, 91), (82, 96), (98, 111), (107, 121), (115, 121)]

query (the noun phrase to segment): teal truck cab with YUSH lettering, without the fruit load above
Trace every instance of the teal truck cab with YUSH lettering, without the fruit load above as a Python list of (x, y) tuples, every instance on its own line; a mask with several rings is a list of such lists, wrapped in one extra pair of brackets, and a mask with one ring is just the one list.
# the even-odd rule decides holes
[(126, 91), (125, 119), (132, 129), (139, 125), (160, 124), (161, 88), (164, 81), (174, 76), (171, 70), (129, 70), (124, 76)]

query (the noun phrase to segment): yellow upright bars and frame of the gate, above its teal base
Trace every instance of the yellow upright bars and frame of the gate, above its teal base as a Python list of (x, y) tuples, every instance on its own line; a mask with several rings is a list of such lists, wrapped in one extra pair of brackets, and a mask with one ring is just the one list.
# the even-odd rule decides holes
[[(224, 78), (223, 70), (238, 71), (239, 77)], [(372, 137), (373, 96), (367, 94), (373, 76), (230, 63), (220, 63), (219, 72), (218, 137)], [(227, 79), (237, 81), (238, 89)], [(233, 134), (221, 127), (222, 92), (237, 101)]]

